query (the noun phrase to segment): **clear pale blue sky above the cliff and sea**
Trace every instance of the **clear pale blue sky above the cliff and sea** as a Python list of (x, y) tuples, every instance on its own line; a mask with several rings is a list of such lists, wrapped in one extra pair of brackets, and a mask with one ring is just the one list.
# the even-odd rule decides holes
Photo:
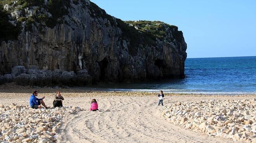
[(178, 26), (188, 58), (256, 56), (256, 0), (92, 0), (122, 20)]

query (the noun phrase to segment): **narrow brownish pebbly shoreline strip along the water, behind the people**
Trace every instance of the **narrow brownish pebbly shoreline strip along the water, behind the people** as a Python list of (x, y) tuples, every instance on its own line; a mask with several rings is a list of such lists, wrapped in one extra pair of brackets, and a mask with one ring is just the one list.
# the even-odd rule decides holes
[[(5, 96), (10, 96), (10, 94), (17, 94), (19, 96), (28, 96), (34, 90), (38, 91), (39, 95), (50, 96), (54, 95), (56, 91), (61, 91), (67, 97), (75, 97), (74, 94), (78, 96), (156, 96), (158, 92), (145, 92), (145, 91), (107, 91), (107, 90), (93, 90), (93, 89), (81, 89), (81, 88), (52, 88), (52, 87), (29, 87), (29, 86), (19, 86), (15, 83), (8, 83), (0, 85), (0, 93), (6, 93)], [(94, 95), (96, 94), (96, 95)], [(227, 96), (238, 96), (238, 97), (256, 97), (256, 94), (216, 94), (216, 93), (165, 93), (165, 96), (195, 96), (195, 97), (205, 97), (205, 96), (217, 96), (217, 97), (227, 97)], [(3, 94), (1, 97), (5, 97)]]

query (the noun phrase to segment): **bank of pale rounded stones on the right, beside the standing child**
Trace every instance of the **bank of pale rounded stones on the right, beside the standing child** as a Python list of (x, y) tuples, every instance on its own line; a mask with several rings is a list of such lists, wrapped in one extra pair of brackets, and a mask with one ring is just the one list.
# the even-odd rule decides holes
[[(161, 116), (201, 135), (256, 143), (256, 99), (180, 102), (162, 109)], [(184, 114), (183, 114), (184, 113)]]

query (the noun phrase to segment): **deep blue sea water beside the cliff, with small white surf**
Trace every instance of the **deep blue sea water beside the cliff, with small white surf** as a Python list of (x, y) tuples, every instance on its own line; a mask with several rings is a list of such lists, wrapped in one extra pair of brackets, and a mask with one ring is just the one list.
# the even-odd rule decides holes
[(256, 56), (188, 58), (185, 61), (185, 79), (100, 84), (89, 88), (104, 91), (256, 94)]

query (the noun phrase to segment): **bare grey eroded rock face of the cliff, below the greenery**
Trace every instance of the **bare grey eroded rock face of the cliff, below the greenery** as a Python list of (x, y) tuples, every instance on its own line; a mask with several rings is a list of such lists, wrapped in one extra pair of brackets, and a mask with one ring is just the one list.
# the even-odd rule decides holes
[[(22, 84), (21, 79), (31, 83), (41, 76), (52, 80), (52, 76), (57, 76), (56, 80), (67, 77), (81, 80), (81, 84), (184, 77), (187, 44), (178, 27), (166, 27), (171, 42), (156, 39), (155, 45), (143, 44), (145, 40), (134, 45), (123, 37), (125, 31), (116, 18), (110, 22), (97, 17), (88, 8), (89, 1), (79, 3), (70, 3), (63, 24), (40, 30), (32, 24), (32, 30), (26, 31), (23, 23), (18, 40), (0, 43), (0, 75), (13, 72), (8, 79), (0, 76), (0, 83), (14, 80)], [(15, 66), (19, 68), (12, 69)], [(67, 76), (62, 71), (67, 71)]]

